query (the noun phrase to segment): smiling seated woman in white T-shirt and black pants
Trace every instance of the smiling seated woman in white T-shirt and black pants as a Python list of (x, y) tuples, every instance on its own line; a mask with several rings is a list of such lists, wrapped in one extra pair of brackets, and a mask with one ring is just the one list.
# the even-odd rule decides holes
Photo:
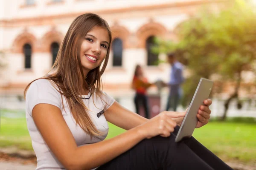
[[(194, 138), (174, 142), (185, 113), (162, 112), (148, 120), (100, 90), (110, 44), (105, 20), (96, 14), (77, 17), (61, 44), (55, 72), (26, 87), (36, 170), (231, 169)], [(211, 103), (206, 99), (198, 110), (197, 127), (207, 124)], [(107, 121), (127, 131), (104, 140)]]

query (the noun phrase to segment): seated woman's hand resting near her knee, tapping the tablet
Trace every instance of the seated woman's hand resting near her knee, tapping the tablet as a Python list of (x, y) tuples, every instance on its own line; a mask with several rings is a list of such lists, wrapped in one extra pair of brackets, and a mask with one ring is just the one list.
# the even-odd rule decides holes
[(168, 114), (162, 112), (137, 128), (144, 138), (150, 139), (158, 135), (170, 136), (176, 125), (177, 123)]

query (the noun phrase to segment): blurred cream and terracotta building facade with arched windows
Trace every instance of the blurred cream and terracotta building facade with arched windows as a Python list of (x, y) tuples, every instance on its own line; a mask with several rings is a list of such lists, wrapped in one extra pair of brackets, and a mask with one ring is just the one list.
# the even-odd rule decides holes
[[(134, 68), (143, 66), (149, 81), (168, 80), (169, 65), (155, 65), (164, 55), (152, 54), (154, 37), (176, 40), (175, 28), (202, 6), (215, 9), (220, 0), (2, 0), (0, 50), (6, 67), (0, 89), (19, 93), (52, 67), (72, 21), (87, 12), (108, 21), (113, 33), (103, 75), (107, 91), (129, 91)], [(117, 87), (119, 90), (117, 90)]]

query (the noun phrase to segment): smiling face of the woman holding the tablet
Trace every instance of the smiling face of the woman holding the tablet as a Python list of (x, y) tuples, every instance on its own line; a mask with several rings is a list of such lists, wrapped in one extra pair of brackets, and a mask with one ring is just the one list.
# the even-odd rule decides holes
[(110, 40), (105, 28), (95, 27), (84, 37), (81, 44), (81, 65), (84, 74), (101, 65), (107, 55)]

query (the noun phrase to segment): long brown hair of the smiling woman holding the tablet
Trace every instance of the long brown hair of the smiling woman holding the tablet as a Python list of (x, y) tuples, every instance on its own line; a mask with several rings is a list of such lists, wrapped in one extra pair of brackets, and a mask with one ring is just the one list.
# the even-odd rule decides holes
[[(79, 94), (81, 94), (81, 82), (83, 82), (83, 89), (88, 89), (92, 95), (102, 95), (101, 75), (103, 74), (107, 66), (110, 50), (110, 47), (108, 47), (107, 55), (105, 57), (102, 69), (100, 70), (99, 65), (99, 67), (89, 71), (87, 76), (84, 77), (80, 60), (81, 42), (87, 32), (92, 30), (94, 27), (105, 28), (108, 31), (111, 43), (111, 30), (108, 26), (108, 23), (99, 15), (91, 13), (82, 14), (77, 17), (70, 25), (70, 28), (68, 29), (67, 34), (65, 35), (64, 40), (61, 43), (56, 61), (51, 68), (51, 70), (55, 68), (54, 73), (39, 78), (48, 79), (51, 82), (54, 82), (55, 85), (57, 85), (57, 90), (63, 96), (65, 96), (71, 113), (76, 120), (76, 123), (79, 124), (79, 126), (87, 134), (89, 134), (91, 138), (93, 136), (99, 136), (101, 132), (97, 130), (97, 128), (93, 124), (93, 121), (91, 120), (88, 113), (88, 108), (86, 108), (84, 102), (79, 97)], [(25, 99), (26, 91), (28, 90), (32, 82), (30, 82), (24, 90)]]

